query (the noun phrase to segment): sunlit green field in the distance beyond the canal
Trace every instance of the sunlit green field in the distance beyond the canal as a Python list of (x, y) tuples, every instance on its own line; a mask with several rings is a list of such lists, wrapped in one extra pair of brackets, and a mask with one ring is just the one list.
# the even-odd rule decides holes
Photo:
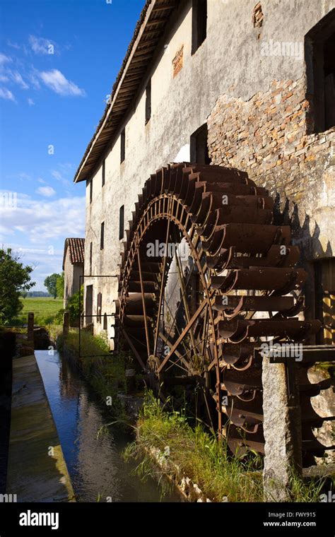
[(63, 307), (62, 298), (52, 297), (27, 297), (21, 298), (23, 309), (18, 314), (18, 324), (27, 324), (29, 312), (35, 313), (35, 324), (49, 324), (54, 320), (54, 316)]

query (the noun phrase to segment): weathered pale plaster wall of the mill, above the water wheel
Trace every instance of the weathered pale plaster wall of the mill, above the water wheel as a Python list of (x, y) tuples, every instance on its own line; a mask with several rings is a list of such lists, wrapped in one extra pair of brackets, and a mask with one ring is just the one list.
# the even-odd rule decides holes
[[(105, 155), (106, 179), (105, 186), (101, 182), (101, 164), (97, 167), (93, 177), (93, 203), (89, 201), (89, 187), (86, 196), (86, 244), (93, 242), (93, 274), (117, 274), (119, 264), (119, 253), (121, 251), (122, 241), (119, 241), (119, 207), (124, 205), (125, 208), (125, 225), (131, 218), (131, 211), (134, 210), (134, 203), (137, 200), (137, 194), (146, 178), (153, 170), (174, 160), (184, 160), (189, 154), (189, 137), (201, 124), (206, 122), (210, 126), (209, 143), (213, 159), (216, 162), (222, 162), (229, 165), (243, 167), (248, 163), (247, 169), (253, 177), (259, 176), (259, 181), (265, 181), (271, 184), (271, 191), (276, 191), (276, 186), (281, 184), (286, 172), (274, 172), (274, 168), (267, 170), (266, 167), (274, 162), (272, 158), (266, 159), (266, 154), (258, 155), (255, 160), (248, 160), (249, 155), (249, 131), (245, 138), (238, 139), (232, 130), (232, 125), (226, 125), (221, 119), (218, 119), (214, 126), (215, 113), (218, 107), (222, 105), (220, 112), (221, 118), (225, 118), (228, 112), (225, 110), (225, 104), (230, 102), (240, 105), (238, 110), (232, 110), (235, 127), (240, 129), (239, 116), (241, 121), (249, 117), (248, 107), (257, 107), (256, 95), (268, 96), (270, 101), (266, 105), (261, 105), (257, 117), (253, 123), (266, 122), (266, 118), (261, 114), (272, 115), (271, 111), (266, 111), (267, 106), (272, 104), (272, 97), (279, 99), (278, 92), (274, 92), (274, 81), (279, 81), (275, 90), (280, 85), (287, 88), (297, 82), (293, 88), (293, 95), (299, 93), (299, 99), (302, 98), (304, 91), (303, 76), (305, 73), (305, 61), (303, 54), (295, 56), (269, 56), (262, 54), (262, 43), (269, 43), (270, 40), (280, 42), (295, 42), (302, 46), (305, 34), (312, 28), (331, 8), (334, 8), (334, 0), (264, 0), (261, 2), (264, 13), (263, 24), (261, 27), (254, 28), (252, 23), (252, 12), (256, 4), (255, 0), (208, 0), (208, 23), (207, 37), (204, 43), (199, 47), (194, 55), (191, 54), (192, 40), (192, 2), (187, 1), (184, 7), (178, 13), (178, 16), (170, 24), (165, 36), (161, 42), (155, 61), (153, 61), (151, 72), (151, 92), (152, 92), (152, 114), (148, 124), (145, 125), (145, 88), (147, 80), (143, 80), (143, 86), (139, 90), (136, 102), (129, 110), (128, 117), (124, 118), (124, 124), (120, 126), (120, 131), (125, 126), (126, 129), (126, 158), (124, 163), (120, 164), (120, 137), (117, 136), (111, 141), (110, 150)], [(183, 67), (180, 73), (172, 77), (172, 59), (181, 46), (184, 46)], [(298, 52), (300, 45), (297, 46)], [(292, 81), (288, 83), (288, 81)], [(277, 83), (276, 83), (277, 84)], [(302, 84), (302, 85), (300, 85)], [(284, 93), (290, 90), (283, 88)], [(282, 97), (281, 97), (282, 98)], [(265, 99), (265, 97), (264, 97)], [(289, 99), (289, 97), (287, 98)], [(295, 97), (294, 97), (295, 99)], [(285, 100), (283, 101), (285, 102)], [(301, 99), (299, 102), (302, 102)], [(287, 106), (287, 103), (285, 104)], [(280, 109), (282, 110), (282, 109)], [(300, 110), (300, 109), (299, 109)], [(297, 112), (299, 112), (297, 110)], [(280, 114), (277, 113), (276, 121), (281, 121)], [(292, 112), (293, 114), (294, 112)], [(300, 114), (302, 115), (302, 114)], [(297, 118), (299, 118), (299, 114)], [(248, 119), (247, 119), (248, 120)], [(252, 119), (250, 119), (252, 122)], [(298, 119), (295, 119), (295, 124)], [(304, 126), (299, 126), (300, 136)], [(213, 129), (218, 131), (219, 141), (216, 143)], [(243, 126), (246, 130), (246, 126)], [(240, 132), (240, 130), (239, 130)], [(229, 134), (228, 134), (229, 133)], [(230, 143), (230, 135), (232, 136)], [(225, 137), (226, 136), (226, 137)], [(288, 136), (286, 134), (285, 136)], [(327, 135), (328, 136), (328, 135)], [(329, 134), (326, 141), (322, 141), (322, 136), (316, 141), (315, 148), (320, 147), (319, 151), (313, 149), (315, 160), (319, 162), (320, 158), (324, 159), (324, 165), (319, 167), (325, 170), (325, 165), (330, 166), (329, 160), (329, 143), (333, 138)], [(218, 138), (217, 138), (218, 139)], [(243, 143), (242, 143), (243, 142)], [(265, 147), (272, 143), (265, 140)], [(288, 146), (288, 139), (285, 145)], [(307, 145), (312, 143), (306, 138)], [(219, 146), (222, 146), (220, 148)], [(233, 147), (237, 144), (237, 147)], [(229, 147), (234, 150), (231, 156), (225, 156), (224, 148)], [(271, 147), (271, 152), (274, 147)], [(314, 147), (314, 146), (313, 146)], [(299, 151), (299, 150), (297, 150)], [(314, 152), (315, 151), (315, 152)], [(274, 151), (275, 152), (275, 151)], [(254, 151), (253, 151), (254, 153)], [(280, 152), (277, 151), (279, 154)], [(301, 153), (302, 154), (302, 153)], [(180, 159), (177, 159), (180, 155)], [(259, 157), (259, 158), (258, 158)], [(297, 177), (300, 177), (300, 160), (297, 155), (298, 170)], [(263, 162), (264, 160), (264, 162)], [(285, 170), (284, 162), (286, 158), (276, 155), (276, 160), (283, 160), (282, 170)], [(308, 161), (307, 161), (308, 162)], [(266, 164), (265, 164), (266, 163)], [(252, 167), (254, 164), (254, 167)], [(292, 165), (293, 163), (290, 163)], [(286, 165), (286, 167), (290, 167)], [(331, 191), (324, 191), (322, 180), (319, 179), (319, 167), (312, 170), (312, 160), (310, 164), (305, 164), (303, 188), (286, 187), (286, 194), (297, 196), (300, 193), (300, 199), (310, 190), (310, 182), (314, 181), (318, 196), (315, 197), (313, 212), (323, 211), (324, 199), (327, 201), (327, 210), (331, 210)], [(310, 167), (308, 167), (310, 166)], [(257, 171), (259, 170), (259, 171)], [(261, 171), (260, 171), (261, 170)], [(279, 168), (278, 168), (279, 170)], [(261, 172), (265, 175), (261, 175)], [(269, 172), (269, 175), (267, 175)], [(330, 182), (331, 175), (324, 171), (325, 181)], [(270, 175), (272, 174), (272, 175)], [(273, 178), (271, 178), (273, 177)], [(257, 179), (258, 180), (258, 179)], [(309, 196), (310, 197), (310, 196)], [(298, 199), (297, 199), (298, 200)], [(310, 201), (306, 201), (312, 203)], [(317, 214), (317, 213), (315, 213)], [(301, 217), (300, 217), (301, 218)], [(302, 216), (303, 218), (303, 216)], [(320, 218), (318, 213), (318, 224)], [(326, 210), (322, 213), (321, 219), (329, 219)], [(100, 224), (105, 221), (105, 249), (100, 251)], [(322, 223), (322, 233), (324, 239), (322, 251), (327, 248), (326, 242), (330, 240), (329, 223)], [(326, 242), (325, 242), (326, 241)], [(319, 250), (318, 252), (321, 252)], [(89, 259), (86, 256), (85, 273), (89, 273)], [(102, 313), (110, 311), (112, 299), (117, 297), (117, 282), (115, 278), (93, 278), (91, 281), (86, 278), (86, 284), (95, 285), (93, 295), (93, 310), (96, 308), (96, 293), (102, 292)], [(96, 313), (96, 311), (93, 311)]]

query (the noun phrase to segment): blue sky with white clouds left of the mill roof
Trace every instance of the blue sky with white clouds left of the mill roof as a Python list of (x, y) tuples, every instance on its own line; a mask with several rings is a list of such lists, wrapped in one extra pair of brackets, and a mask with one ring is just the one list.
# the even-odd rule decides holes
[(83, 237), (74, 173), (144, 0), (1, 0), (0, 244), (33, 264), (34, 290)]

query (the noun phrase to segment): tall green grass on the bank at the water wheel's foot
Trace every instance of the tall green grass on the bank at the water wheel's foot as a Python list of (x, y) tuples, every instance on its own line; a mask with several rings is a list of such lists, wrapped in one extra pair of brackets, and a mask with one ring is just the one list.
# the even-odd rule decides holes
[[(135, 442), (125, 450), (125, 459), (141, 459), (137, 467), (142, 478), (159, 477), (160, 470), (153, 462), (153, 447), (164, 457), (169, 473), (181, 473), (196, 483), (206, 497), (214, 502), (262, 502), (262, 460), (249, 452), (231, 456), (225, 441), (218, 442), (201, 425), (190, 427), (187, 418), (177, 412), (166, 412), (153, 397), (146, 394)], [(144, 456), (144, 459), (143, 459)], [(166, 468), (165, 468), (166, 471)], [(323, 480), (303, 482), (294, 476), (290, 485), (293, 502), (318, 502)]]

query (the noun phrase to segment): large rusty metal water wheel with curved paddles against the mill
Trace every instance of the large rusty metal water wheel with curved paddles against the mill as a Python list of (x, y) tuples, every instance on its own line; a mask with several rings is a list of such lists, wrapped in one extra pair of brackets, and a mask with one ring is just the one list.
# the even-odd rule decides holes
[[(169, 394), (177, 401), (184, 386), (196, 417), (225, 435), (233, 452), (245, 446), (264, 453), (254, 348), (264, 338), (302, 341), (320, 326), (295, 317), (306, 273), (295, 268), (299, 250), (290, 245), (290, 228), (273, 224), (273, 206), (245, 172), (163, 167), (139, 195), (120, 265), (118, 341), (163, 401)], [(310, 464), (324, 453), (312, 434), (323, 420), (310, 396), (330, 384), (311, 385), (302, 365), (298, 382)]]

